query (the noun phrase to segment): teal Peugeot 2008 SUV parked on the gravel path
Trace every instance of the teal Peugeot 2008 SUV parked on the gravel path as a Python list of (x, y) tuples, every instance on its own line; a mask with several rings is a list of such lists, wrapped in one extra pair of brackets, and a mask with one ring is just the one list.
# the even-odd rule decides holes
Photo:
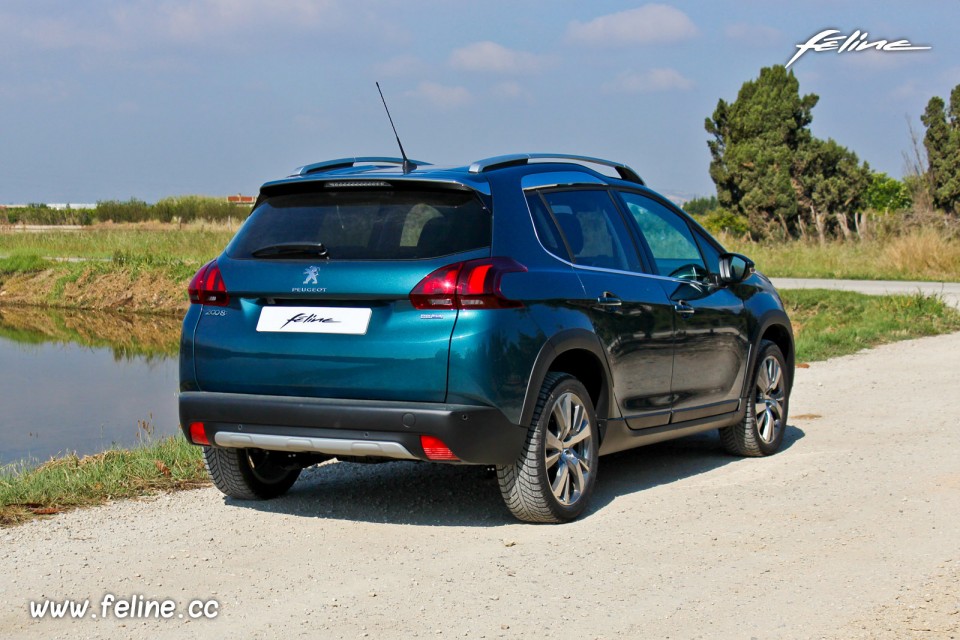
[(478, 464), (516, 517), (563, 522), (599, 455), (719, 429), (764, 456), (786, 428), (770, 281), (616, 162), (309, 165), (189, 293), (181, 425), (234, 498), (331, 458)]

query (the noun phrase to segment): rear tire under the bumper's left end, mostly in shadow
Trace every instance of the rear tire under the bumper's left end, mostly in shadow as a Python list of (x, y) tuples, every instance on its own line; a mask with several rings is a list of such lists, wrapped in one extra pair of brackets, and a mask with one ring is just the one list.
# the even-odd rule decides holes
[(203, 447), (203, 459), (214, 486), (239, 500), (268, 500), (286, 493), (301, 470), (285, 467), (285, 455), (263, 449)]

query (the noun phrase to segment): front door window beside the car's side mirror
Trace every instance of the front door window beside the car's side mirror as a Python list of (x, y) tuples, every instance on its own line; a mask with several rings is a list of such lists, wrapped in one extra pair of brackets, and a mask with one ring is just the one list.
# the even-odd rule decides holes
[(683, 218), (646, 196), (636, 193), (620, 196), (640, 227), (660, 275), (684, 279), (707, 275), (697, 241)]

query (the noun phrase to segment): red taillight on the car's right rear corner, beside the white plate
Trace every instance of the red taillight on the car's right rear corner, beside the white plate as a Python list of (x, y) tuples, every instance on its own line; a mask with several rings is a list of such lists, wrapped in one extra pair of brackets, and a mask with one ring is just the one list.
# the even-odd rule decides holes
[(500, 290), (505, 273), (526, 271), (513, 258), (481, 258), (440, 267), (410, 292), (417, 309), (509, 309), (522, 307)]

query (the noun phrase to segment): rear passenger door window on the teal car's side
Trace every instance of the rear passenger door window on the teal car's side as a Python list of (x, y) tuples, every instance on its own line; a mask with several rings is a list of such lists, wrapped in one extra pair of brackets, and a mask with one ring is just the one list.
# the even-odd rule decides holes
[(606, 191), (551, 191), (541, 195), (575, 264), (640, 271), (640, 258), (630, 233)]

